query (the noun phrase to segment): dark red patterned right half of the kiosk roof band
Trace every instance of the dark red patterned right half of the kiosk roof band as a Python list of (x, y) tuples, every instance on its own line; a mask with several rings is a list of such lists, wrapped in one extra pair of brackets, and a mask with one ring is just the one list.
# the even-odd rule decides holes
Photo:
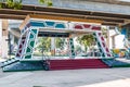
[(74, 29), (101, 30), (101, 26), (93, 24), (75, 24)]

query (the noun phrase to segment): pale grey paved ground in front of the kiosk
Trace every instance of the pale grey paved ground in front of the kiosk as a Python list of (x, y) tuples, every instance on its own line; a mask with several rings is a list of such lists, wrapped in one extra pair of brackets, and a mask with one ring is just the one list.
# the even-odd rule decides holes
[(130, 87), (130, 69), (0, 72), (0, 87)]

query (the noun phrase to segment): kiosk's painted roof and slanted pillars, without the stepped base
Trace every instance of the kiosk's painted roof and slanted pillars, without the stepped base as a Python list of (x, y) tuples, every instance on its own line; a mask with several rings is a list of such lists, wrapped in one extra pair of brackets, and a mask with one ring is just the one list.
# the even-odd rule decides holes
[(68, 37), (70, 46), (70, 57), (75, 58), (73, 37), (93, 33), (102, 57), (110, 57), (110, 52), (101, 33), (101, 25), (70, 23), (62, 21), (40, 20), (32, 16), (21, 26), (22, 35), (20, 39), (16, 59), (32, 59), (32, 52), (38, 36), (42, 37)]

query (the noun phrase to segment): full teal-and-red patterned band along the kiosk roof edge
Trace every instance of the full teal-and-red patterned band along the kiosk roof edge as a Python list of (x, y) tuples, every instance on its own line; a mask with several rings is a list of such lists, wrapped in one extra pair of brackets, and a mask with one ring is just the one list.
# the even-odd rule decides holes
[[(73, 27), (69, 26), (73, 25)], [(41, 27), (41, 28), (53, 28), (53, 29), (83, 29), (83, 30), (101, 30), (101, 25), (95, 24), (80, 24), (80, 23), (64, 23), (64, 22), (55, 22), (55, 21), (34, 21), (30, 22), (25, 26), (22, 33), (28, 30), (28, 27)]]

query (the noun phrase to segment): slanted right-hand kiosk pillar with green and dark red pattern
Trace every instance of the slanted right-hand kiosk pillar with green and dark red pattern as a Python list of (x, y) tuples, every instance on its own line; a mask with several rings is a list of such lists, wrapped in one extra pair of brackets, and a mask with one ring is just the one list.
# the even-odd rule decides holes
[(95, 41), (98, 42), (100, 52), (102, 53), (102, 57), (112, 57), (112, 53), (105, 44), (105, 39), (104, 39), (102, 33), (95, 32), (95, 33), (93, 33), (93, 36), (95, 38)]

